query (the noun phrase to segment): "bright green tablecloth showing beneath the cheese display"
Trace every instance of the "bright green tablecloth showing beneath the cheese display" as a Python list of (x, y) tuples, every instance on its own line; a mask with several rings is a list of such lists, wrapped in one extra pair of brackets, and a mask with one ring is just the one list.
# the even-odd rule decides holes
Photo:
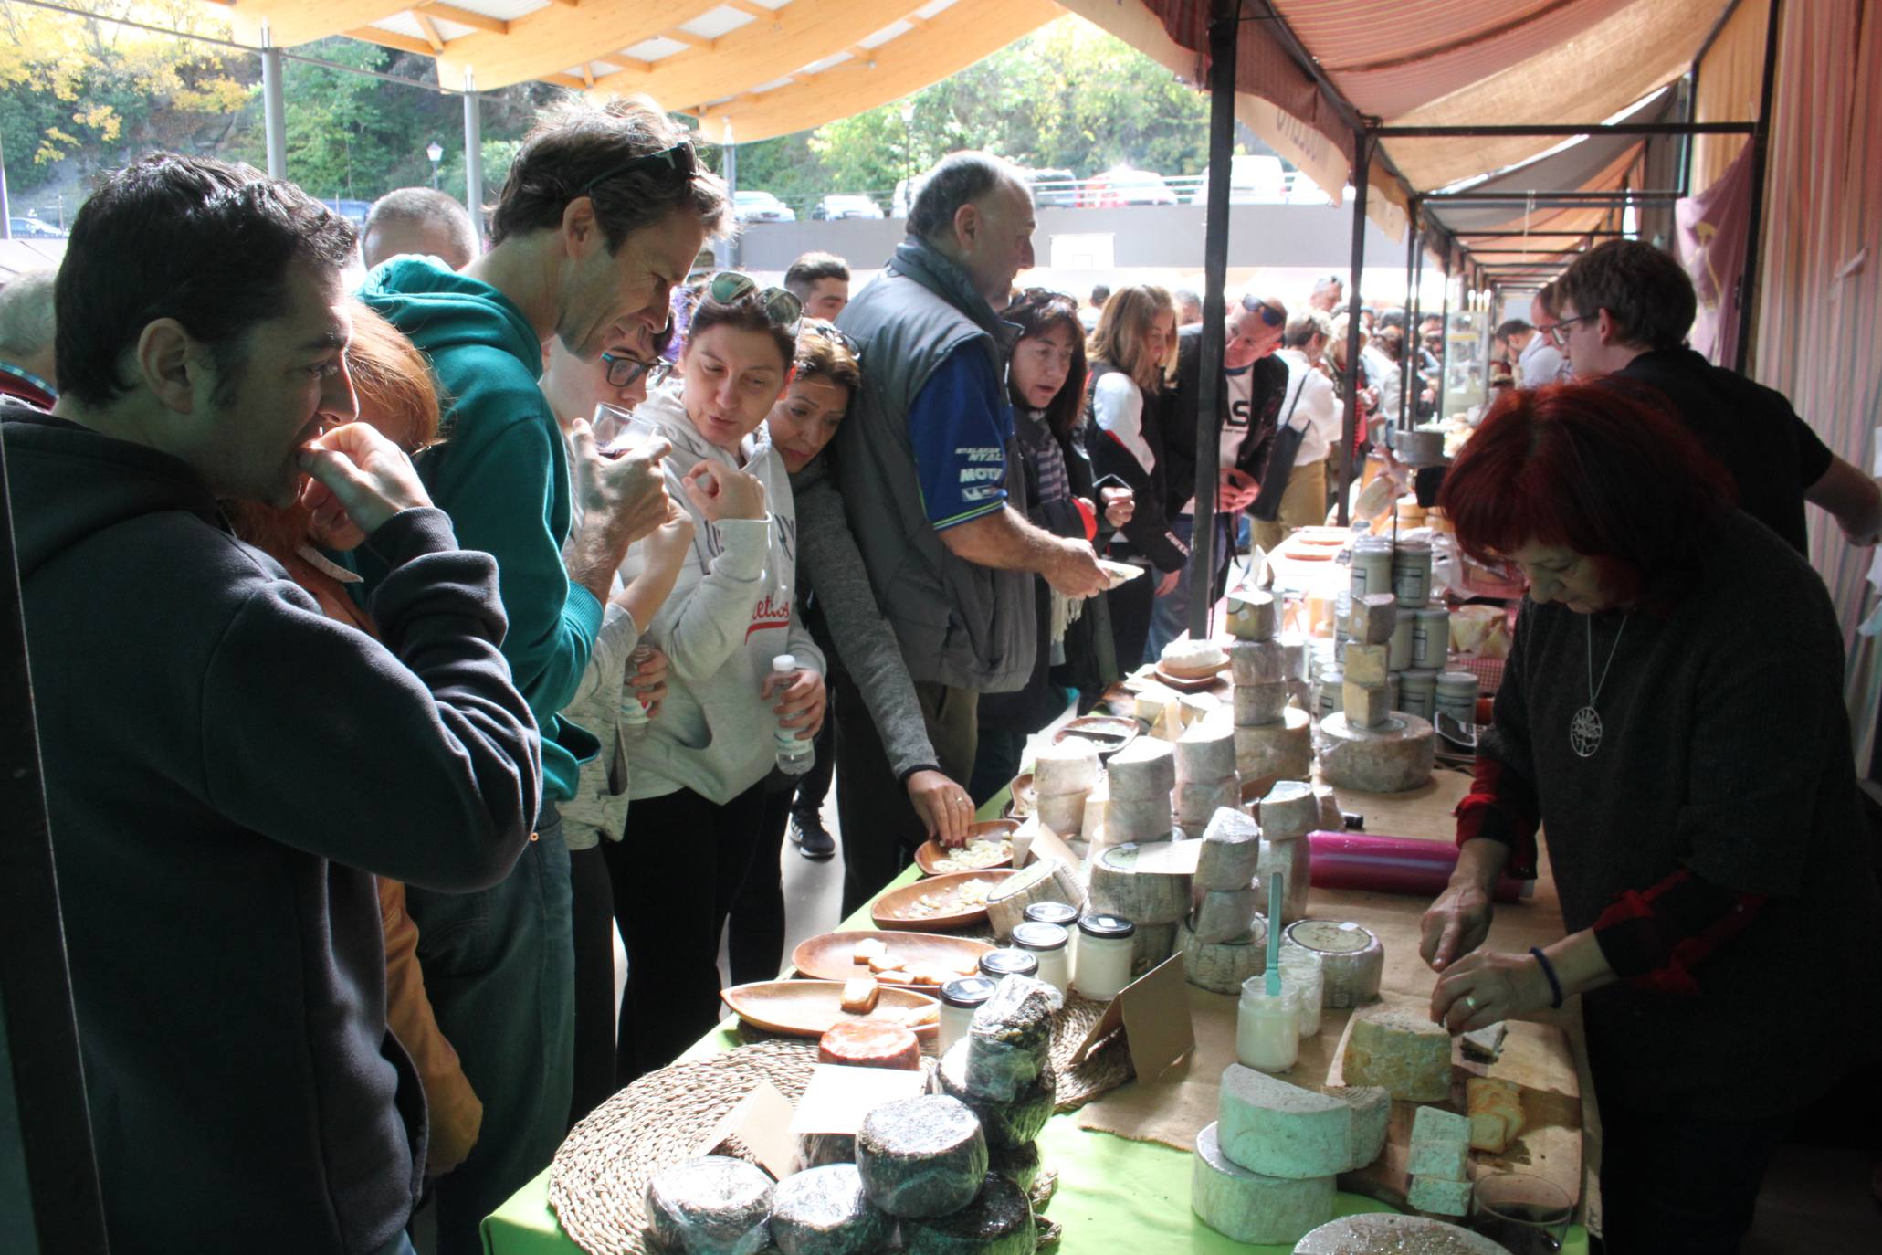
[[(981, 818), (996, 818), (1005, 809), (1001, 792), (981, 807)], [(909, 867), (883, 886), (883, 892), (920, 877)], [(868, 907), (843, 920), (841, 928), (873, 928)], [(740, 1044), (736, 1020), (708, 1033), (689, 1057), (732, 1050)], [(1039, 1138), (1048, 1168), (1060, 1174), (1058, 1195), (1046, 1215), (1065, 1227), (1061, 1255), (1116, 1255), (1118, 1251), (1156, 1251), (1157, 1255), (1287, 1255), (1287, 1246), (1244, 1246), (1204, 1225), (1189, 1210), (1189, 1153), (1157, 1142), (1133, 1142), (1110, 1133), (1080, 1129), (1075, 1114), (1054, 1116)], [(1391, 1212), (1393, 1208), (1342, 1193), (1334, 1214)], [(550, 1208), (550, 1172), (523, 1185), (484, 1221), (487, 1255), (582, 1255), (555, 1221)], [(1577, 1225), (1570, 1231), (1564, 1255), (1587, 1255), (1588, 1238)]]

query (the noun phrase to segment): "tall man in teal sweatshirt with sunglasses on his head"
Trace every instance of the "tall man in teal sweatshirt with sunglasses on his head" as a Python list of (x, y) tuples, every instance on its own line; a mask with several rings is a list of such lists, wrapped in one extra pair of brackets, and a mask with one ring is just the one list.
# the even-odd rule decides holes
[[(516, 871), (480, 894), (414, 886), (407, 896), (425, 992), (484, 1103), (476, 1148), (439, 1178), (442, 1255), (482, 1249), (484, 1215), (548, 1165), (566, 1131), (574, 948), (555, 802), (574, 796), (597, 741), (559, 711), (627, 546), (666, 516), (664, 440), (610, 459), (576, 423), (570, 465), (536, 386), (542, 342), (553, 335), (595, 359), (623, 324), (662, 327), (674, 284), (725, 218), (725, 184), (651, 102), (576, 105), (523, 143), (487, 254), (463, 273), (393, 258), (361, 292), (431, 359), (444, 440), (418, 469), (459, 542), (497, 557), (510, 617), (502, 653), (542, 724), (546, 802)], [(570, 538), (572, 493), (582, 523)]]

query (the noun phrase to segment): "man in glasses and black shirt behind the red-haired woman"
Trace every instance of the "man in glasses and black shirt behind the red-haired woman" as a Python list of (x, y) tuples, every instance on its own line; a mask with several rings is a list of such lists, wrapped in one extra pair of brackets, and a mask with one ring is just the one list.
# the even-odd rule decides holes
[(1671, 254), (1634, 239), (1581, 254), (1555, 282), (1551, 329), (1577, 380), (1605, 376), (1671, 405), (1737, 482), (1739, 508), (1809, 555), (1803, 502), (1835, 517), (1854, 546), (1882, 536), (1882, 491), (1842, 461), (1762, 384), (1686, 346), (1698, 316), (1692, 278)]

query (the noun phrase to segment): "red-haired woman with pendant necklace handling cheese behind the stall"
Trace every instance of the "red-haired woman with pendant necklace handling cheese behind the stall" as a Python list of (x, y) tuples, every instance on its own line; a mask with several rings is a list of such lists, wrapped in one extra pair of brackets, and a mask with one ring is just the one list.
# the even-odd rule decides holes
[[(1790, 1118), (1874, 1009), (1882, 920), (1824, 583), (1666, 414), (1500, 399), (1445, 476), (1528, 578), (1459, 864), (1425, 914), (1451, 1031), (1583, 995), (1609, 1249), (1735, 1251)], [(1479, 950), (1547, 834), (1568, 935)]]

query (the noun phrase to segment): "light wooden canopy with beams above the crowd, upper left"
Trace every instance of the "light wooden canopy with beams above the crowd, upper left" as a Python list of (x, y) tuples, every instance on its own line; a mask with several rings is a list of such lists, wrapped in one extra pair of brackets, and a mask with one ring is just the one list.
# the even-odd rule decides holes
[[(215, 0), (203, 0), (205, 4)], [(1052, 0), (233, 0), (245, 43), (348, 36), (435, 56), (439, 83), (540, 79), (646, 92), (738, 143), (822, 126), (965, 70), (1063, 9)]]

